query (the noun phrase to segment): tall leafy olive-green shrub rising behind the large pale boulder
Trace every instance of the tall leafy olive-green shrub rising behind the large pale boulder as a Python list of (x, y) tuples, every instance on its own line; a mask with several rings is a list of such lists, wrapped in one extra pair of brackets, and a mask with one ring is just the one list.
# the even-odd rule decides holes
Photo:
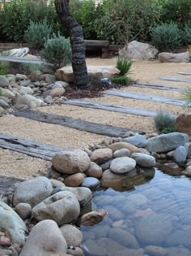
[(99, 39), (124, 45), (137, 39), (149, 39), (151, 24), (159, 21), (159, 6), (155, 0), (104, 0), (104, 15), (95, 22)]

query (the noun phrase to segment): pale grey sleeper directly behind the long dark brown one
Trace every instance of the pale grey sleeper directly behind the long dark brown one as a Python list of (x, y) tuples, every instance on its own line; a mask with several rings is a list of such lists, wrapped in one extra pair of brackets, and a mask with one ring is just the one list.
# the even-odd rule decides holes
[(142, 115), (142, 116), (153, 117), (157, 114), (155, 111), (146, 111), (138, 108), (112, 105), (112, 104), (101, 103), (101, 102), (84, 101), (82, 99), (79, 99), (79, 100), (71, 99), (71, 100), (65, 101), (64, 104), (96, 108), (104, 111), (114, 111), (114, 112), (120, 112), (120, 113), (131, 114), (131, 115)]

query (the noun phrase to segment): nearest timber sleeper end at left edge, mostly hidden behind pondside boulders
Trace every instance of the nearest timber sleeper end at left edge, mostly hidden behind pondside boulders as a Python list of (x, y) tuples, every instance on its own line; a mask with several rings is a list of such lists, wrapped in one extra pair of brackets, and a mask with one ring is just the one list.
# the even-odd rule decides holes
[(0, 200), (2, 197), (12, 194), (22, 181), (24, 180), (14, 177), (0, 176)]

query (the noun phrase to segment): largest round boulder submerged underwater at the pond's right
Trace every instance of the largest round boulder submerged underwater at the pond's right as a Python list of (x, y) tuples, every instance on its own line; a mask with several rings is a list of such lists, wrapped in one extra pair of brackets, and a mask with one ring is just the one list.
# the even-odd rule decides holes
[(172, 233), (172, 221), (168, 215), (153, 214), (142, 217), (136, 224), (136, 235), (146, 245), (159, 245)]

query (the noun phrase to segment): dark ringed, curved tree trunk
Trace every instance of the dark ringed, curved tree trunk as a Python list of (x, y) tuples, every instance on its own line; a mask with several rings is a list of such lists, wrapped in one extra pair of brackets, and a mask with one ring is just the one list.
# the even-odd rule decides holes
[(69, 2), (70, 0), (55, 0), (55, 7), (59, 19), (65, 25), (70, 36), (74, 85), (80, 89), (90, 89), (90, 79), (87, 75), (83, 28), (70, 14)]

